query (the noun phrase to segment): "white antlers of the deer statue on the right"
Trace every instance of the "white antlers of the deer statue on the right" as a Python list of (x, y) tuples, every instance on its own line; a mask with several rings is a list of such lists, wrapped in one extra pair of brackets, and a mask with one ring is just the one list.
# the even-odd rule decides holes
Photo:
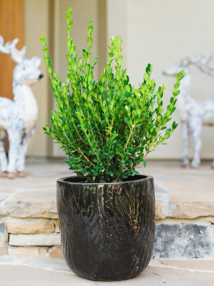
[(209, 76), (214, 76), (214, 63), (212, 62), (213, 56), (209, 58), (200, 55), (198, 57), (189, 58), (190, 64), (196, 66), (200, 71)]

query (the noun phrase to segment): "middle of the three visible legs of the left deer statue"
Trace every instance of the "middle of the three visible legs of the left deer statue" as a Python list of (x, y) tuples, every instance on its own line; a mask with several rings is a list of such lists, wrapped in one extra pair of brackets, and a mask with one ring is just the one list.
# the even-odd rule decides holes
[(8, 131), (9, 137), (9, 152), (8, 152), (8, 178), (15, 178), (16, 162), (18, 159), (19, 145), (22, 141), (22, 131), (10, 130)]

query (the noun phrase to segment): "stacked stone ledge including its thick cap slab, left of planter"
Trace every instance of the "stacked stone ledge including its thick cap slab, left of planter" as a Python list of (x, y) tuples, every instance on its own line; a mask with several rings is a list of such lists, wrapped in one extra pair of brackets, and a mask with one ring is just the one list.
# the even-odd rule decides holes
[(0, 198), (0, 255), (63, 258), (53, 191)]

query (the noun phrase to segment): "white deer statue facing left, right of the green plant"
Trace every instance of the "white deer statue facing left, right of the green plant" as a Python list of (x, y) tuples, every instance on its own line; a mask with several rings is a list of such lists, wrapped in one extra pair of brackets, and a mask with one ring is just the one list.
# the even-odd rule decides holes
[[(189, 164), (189, 135), (192, 135), (194, 145), (192, 168), (197, 168), (200, 164), (202, 126), (214, 126), (214, 99), (196, 100), (191, 97), (191, 76), (188, 66), (192, 64), (204, 73), (213, 76), (214, 66), (211, 65), (211, 59), (211, 57), (206, 59), (203, 56), (186, 58), (174, 63), (163, 71), (163, 74), (167, 76), (174, 76), (180, 70), (184, 70), (185, 74), (181, 81), (181, 92), (177, 99), (183, 136), (183, 167)], [(214, 161), (212, 167), (214, 167)]]

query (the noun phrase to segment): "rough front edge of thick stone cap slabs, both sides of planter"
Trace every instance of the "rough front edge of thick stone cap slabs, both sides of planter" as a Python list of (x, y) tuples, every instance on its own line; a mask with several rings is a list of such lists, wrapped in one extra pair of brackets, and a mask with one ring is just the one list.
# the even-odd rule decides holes
[[(211, 187), (214, 188), (214, 186)], [(168, 187), (156, 184), (155, 191), (156, 219), (214, 217), (214, 189), (213, 193), (203, 192), (203, 195), (195, 193), (183, 196), (183, 192), (172, 194)], [(0, 214), (17, 218), (57, 219), (55, 190), (41, 188), (38, 191), (23, 191), (14, 194), (1, 201)]]

